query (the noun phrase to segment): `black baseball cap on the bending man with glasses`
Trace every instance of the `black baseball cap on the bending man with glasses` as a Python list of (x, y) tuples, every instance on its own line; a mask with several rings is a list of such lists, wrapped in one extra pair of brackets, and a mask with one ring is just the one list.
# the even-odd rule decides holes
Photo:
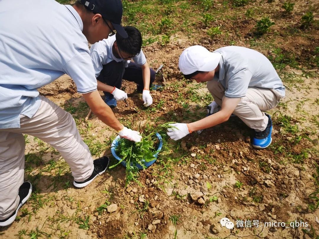
[(123, 38), (128, 35), (121, 26), (123, 6), (121, 0), (79, 0), (85, 7), (94, 14), (101, 14), (103, 19), (109, 20)]

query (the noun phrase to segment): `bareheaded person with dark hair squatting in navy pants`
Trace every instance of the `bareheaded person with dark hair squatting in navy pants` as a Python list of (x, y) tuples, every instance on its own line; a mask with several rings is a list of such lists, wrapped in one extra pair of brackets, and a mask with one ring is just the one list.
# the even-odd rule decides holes
[[(120, 90), (122, 79), (137, 83), (137, 91), (142, 92), (144, 105), (153, 103), (150, 88), (155, 80), (155, 71), (149, 67), (145, 55), (141, 50), (142, 36), (137, 28), (125, 26), (127, 38), (114, 32), (108, 39), (103, 39), (91, 46), (91, 58), (98, 80), (98, 90), (105, 95), (104, 102), (115, 108), (117, 101), (127, 98), (127, 94)], [(131, 62), (133, 60), (134, 62)]]

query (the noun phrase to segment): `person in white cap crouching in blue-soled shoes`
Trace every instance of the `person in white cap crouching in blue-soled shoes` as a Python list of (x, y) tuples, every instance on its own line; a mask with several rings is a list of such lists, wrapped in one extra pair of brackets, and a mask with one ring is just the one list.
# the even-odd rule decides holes
[(207, 82), (215, 101), (207, 106), (206, 118), (171, 124), (167, 130), (171, 139), (213, 127), (234, 114), (254, 129), (253, 147), (271, 144), (271, 117), (263, 111), (278, 104), (285, 96), (285, 87), (267, 57), (246, 47), (228, 46), (209, 52), (205, 47), (192, 46), (182, 52), (178, 66), (186, 79)]

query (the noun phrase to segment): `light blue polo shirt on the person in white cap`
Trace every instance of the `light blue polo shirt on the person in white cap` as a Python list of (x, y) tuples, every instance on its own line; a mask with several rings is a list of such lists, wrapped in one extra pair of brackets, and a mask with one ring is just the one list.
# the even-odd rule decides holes
[(285, 96), (285, 86), (275, 68), (260, 52), (237, 46), (222, 47), (214, 52), (222, 55), (215, 79), (225, 87), (226, 97), (244, 97), (248, 87), (273, 89), (279, 98)]

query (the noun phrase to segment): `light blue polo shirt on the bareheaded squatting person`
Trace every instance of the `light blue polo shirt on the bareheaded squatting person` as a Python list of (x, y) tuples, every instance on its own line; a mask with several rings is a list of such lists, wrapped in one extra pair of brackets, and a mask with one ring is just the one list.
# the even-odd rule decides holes
[[(93, 62), (96, 77), (100, 75), (101, 70), (103, 69), (103, 65), (106, 65), (112, 61), (124, 61), (122, 58), (116, 58), (113, 54), (112, 47), (114, 45), (115, 40), (116, 39), (114, 35), (109, 37), (108, 39), (103, 39), (99, 42), (96, 42), (91, 46), (91, 59)], [(139, 66), (144, 65), (146, 63), (146, 57), (142, 50), (137, 56), (134, 56), (132, 59)], [(126, 62), (128, 64), (130, 61)]]

